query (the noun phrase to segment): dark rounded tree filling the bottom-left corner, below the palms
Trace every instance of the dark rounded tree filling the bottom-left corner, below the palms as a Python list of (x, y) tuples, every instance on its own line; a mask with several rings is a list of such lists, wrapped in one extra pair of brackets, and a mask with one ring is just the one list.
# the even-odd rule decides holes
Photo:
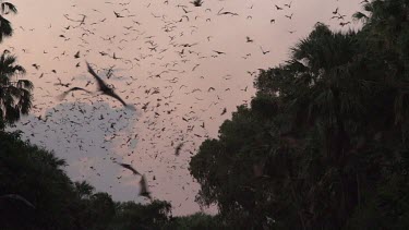
[(52, 153), (21, 141), (19, 133), (0, 132), (0, 193), (21, 195), (35, 206), (1, 206), (0, 228), (77, 229), (71, 213), (76, 195), (64, 165)]

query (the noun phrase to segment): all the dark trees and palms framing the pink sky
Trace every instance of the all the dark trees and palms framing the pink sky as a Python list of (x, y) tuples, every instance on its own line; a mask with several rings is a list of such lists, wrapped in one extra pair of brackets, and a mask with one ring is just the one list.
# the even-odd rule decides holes
[[(12, 35), (0, 2), (0, 41)], [(7, 4), (4, 4), (7, 3)], [(24, 69), (0, 57), (0, 229), (408, 229), (409, 1), (374, 0), (359, 32), (316, 24), (290, 59), (261, 71), (190, 162), (216, 217), (167, 202), (113, 202), (64, 161), (7, 133), (31, 108)]]

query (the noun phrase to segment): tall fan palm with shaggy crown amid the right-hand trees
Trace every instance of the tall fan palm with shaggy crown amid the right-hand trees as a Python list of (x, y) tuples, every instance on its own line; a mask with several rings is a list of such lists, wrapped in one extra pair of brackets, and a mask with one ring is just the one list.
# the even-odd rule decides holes
[(318, 23), (308, 38), (292, 48), (288, 65), (298, 86), (290, 93), (297, 117), (326, 124), (336, 136), (328, 140), (333, 147), (326, 153), (335, 161), (348, 142), (346, 122), (360, 111), (358, 50), (356, 33), (334, 33)]

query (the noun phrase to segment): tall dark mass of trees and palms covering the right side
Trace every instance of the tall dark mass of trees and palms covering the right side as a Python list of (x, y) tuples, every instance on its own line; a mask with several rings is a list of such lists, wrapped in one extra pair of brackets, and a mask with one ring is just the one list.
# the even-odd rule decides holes
[(317, 23), (190, 164), (238, 229), (409, 229), (409, 1)]

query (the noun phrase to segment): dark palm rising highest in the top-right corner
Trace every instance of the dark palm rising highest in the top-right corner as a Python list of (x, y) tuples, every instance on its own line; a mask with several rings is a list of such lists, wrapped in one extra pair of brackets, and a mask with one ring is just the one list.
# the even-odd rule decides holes
[(394, 92), (395, 123), (401, 123), (409, 114), (409, 5), (407, 0), (373, 0), (357, 12), (356, 20), (364, 22), (363, 38), (370, 47), (374, 66), (385, 73), (374, 82)]

